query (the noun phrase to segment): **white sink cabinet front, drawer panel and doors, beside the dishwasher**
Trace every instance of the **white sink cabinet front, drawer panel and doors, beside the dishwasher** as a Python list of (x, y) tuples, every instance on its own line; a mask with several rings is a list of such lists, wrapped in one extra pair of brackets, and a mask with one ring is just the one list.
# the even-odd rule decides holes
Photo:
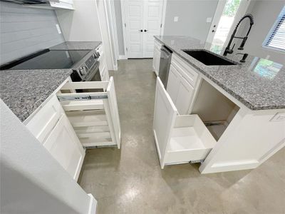
[(170, 73), (167, 81), (167, 93), (170, 94), (178, 113), (187, 114), (193, 100), (198, 74), (189, 66), (172, 55)]

